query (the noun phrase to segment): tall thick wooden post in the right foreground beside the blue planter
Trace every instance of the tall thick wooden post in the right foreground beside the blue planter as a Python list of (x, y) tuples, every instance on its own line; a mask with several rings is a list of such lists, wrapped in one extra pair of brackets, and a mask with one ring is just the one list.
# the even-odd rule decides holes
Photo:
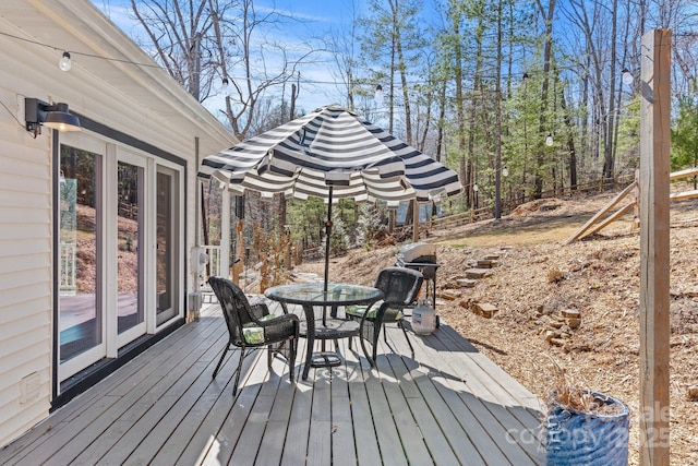
[(641, 41), (640, 465), (669, 466), (669, 171), (671, 38)]

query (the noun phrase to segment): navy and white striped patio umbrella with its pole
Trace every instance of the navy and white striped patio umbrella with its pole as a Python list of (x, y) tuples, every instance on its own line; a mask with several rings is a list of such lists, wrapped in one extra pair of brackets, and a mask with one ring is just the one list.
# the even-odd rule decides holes
[(324, 199), (325, 286), (334, 200), (384, 200), (397, 206), (400, 201), (429, 202), (461, 191), (455, 171), (336, 105), (205, 157), (198, 177), (217, 179), (236, 194), (251, 189), (265, 196)]

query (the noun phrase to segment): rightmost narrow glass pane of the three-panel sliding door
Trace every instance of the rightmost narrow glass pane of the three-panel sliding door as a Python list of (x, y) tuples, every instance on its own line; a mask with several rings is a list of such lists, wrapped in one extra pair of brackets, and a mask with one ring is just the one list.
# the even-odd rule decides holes
[(163, 324), (178, 314), (176, 296), (178, 263), (177, 263), (177, 231), (179, 215), (176, 199), (176, 171), (158, 167), (157, 172), (157, 325)]

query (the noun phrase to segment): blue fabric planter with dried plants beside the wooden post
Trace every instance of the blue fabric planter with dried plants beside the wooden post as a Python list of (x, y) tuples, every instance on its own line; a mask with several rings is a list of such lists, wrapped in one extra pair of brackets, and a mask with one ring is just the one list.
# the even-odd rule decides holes
[(553, 406), (545, 423), (549, 466), (626, 466), (630, 418), (627, 405), (603, 393), (593, 396), (594, 408), (582, 411)]

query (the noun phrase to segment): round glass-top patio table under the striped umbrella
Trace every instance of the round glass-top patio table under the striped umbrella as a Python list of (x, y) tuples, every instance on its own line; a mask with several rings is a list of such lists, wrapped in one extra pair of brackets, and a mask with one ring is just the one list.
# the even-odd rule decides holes
[[(337, 308), (351, 304), (372, 304), (383, 298), (383, 291), (376, 288), (342, 283), (327, 284), (327, 291), (322, 283), (303, 283), (280, 285), (268, 288), (264, 296), (286, 304), (300, 304), (305, 313), (301, 324), (301, 336), (308, 338), (308, 351), (303, 368), (303, 380), (308, 379), (310, 367), (339, 366), (341, 359), (337, 353), (325, 351), (326, 339), (352, 337), (359, 334), (359, 322), (338, 319)], [(322, 307), (322, 315), (315, 315), (315, 307)], [(330, 308), (330, 315), (327, 315)], [(323, 350), (313, 353), (315, 339), (323, 342)]]

